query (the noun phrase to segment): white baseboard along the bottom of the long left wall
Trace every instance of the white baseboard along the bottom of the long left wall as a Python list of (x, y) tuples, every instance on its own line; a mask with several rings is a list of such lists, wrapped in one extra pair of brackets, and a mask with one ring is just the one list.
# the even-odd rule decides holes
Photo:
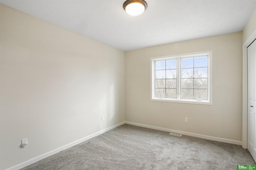
[(20, 163), (20, 164), (18, 164), (18, 165), (12, 166), (12, 167), (10, 167), (10, 168), (8, 168), (8, 169), (6, 169), (6, 170), (19, 170), (19, 169), (21, 169), (21, 168), (24, 168), (25, 166), (28, 166), (28, 165), (30, 165), (30, 164), (33, 164), (33, 163), (35, 163), (35, 162), (37, 162), (37, 161), (39, 161), (39, 160), (42, 160), (42, 159), (47, 158), (47, 157), (49, 157), (49, 156), (52, 156), (53, 154), (56, 154), (56, 153), (58, 153), (58, 152), (60, 152), (60, 151), (62, 151), (62, 150), (65, 150), (65, 149), (68, 149), (68, 148), (70, 148), (70, 147), (73, 147), (73, 146), (75, 146), (75, 145), (77, 145), (77, 144), (79, 144), (79, 143), (82, 143), (82, 142), (84, 142), (84, 141), (87, 141), (88, 139), (91, 139), (91, 138), (93, 138), (93, 137), (96, 137), (96, 136), (98, 136), (98, 135), (100, 135), (100, 134), (102, 134), (102, 133), (105, 133), (105, 132), (107, 132), (107, 131), (109, 131), (109, 130), (111, 130), (111, 129), (114, 129), (114, 128), (120, 126), (120, 125), (123, 125), (124, 123), (125, 123), (125, 121), (123, 121), (123, 122), (121, 122), (121, 123), (118, 123), (118, 124), (116, 124), (116, 125), (114, 125), (114, 126), (108, 127), (108, 128), (106, 128), (106, 129), (103, 129), (103, 130), (101, 130), (101, 131), (98, 131), (98, 132), (96, 132), (96, 133), (94, 133), (94, 134), (92, 134), (92, 135), (89, 135), (89, 136), (87, 136), (87, 137), (84, 137), (84, 138), (82, 138), (82, 139), (79, 139), (79, 140), (77, 140), (77, 141), (74, 141), (74, 142), (72, 142), (72, 143), (69, 143), (69, 144), (67, 144), (67, 145), (64, 145), (63, 147), (54, 149), (54, 150), (52, 150), (52, 151), (50, 151), (50, 152), (47, 152), (47, 153), (45, 153), (45, 154), (42, 154), (42, 155), (40, 155), (40, 156), (37, 156), (37, 157), (35, 157), (35, 158), (32, 158), (32, 159), (27, 160), (27, 161), (25, 161), (25, 162), (22, 162), (22, 163)]

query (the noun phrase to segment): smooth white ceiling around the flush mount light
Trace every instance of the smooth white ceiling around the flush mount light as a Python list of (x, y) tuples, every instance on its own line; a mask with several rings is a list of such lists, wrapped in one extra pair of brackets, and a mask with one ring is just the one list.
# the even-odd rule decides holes
[(125, 0), (0, 0), (0, 3), (122, 51), (242, 31), (256, 0), (146, 0), (129, 16)]

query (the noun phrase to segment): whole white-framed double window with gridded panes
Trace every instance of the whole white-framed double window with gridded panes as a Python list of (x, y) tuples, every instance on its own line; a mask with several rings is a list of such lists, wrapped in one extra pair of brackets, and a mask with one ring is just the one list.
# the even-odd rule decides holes
[(212, 105), (212, 51), (150, 61), (152, 101)]

